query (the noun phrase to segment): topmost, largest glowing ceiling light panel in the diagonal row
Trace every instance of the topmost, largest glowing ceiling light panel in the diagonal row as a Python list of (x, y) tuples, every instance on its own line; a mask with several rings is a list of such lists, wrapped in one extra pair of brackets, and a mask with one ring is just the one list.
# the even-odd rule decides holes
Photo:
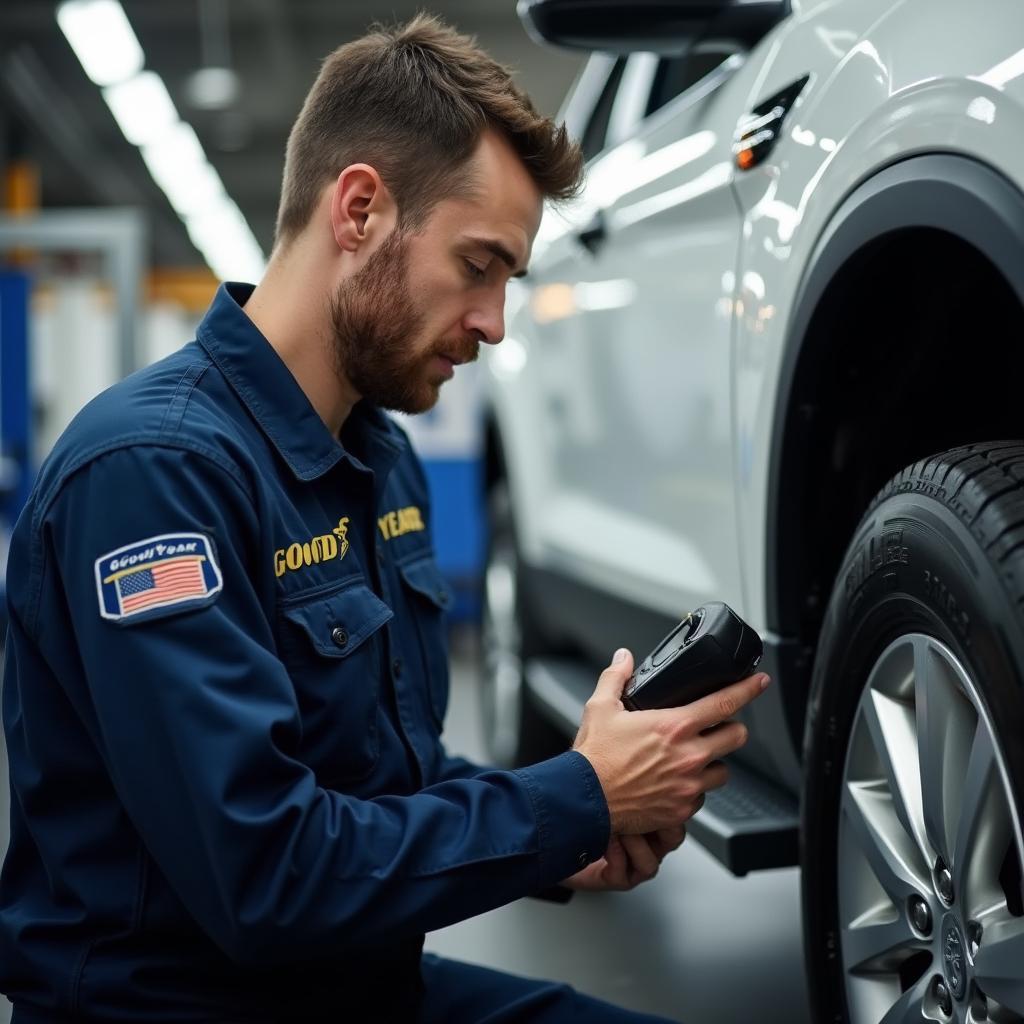
[(142, 70), (142, 47), (118, 0), (67, 0), (57, 24), (96, 85), (115, 85)]

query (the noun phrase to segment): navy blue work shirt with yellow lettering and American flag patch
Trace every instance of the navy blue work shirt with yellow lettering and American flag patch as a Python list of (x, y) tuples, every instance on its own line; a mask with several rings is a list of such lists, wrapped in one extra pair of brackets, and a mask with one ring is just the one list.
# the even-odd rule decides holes
[(445, 754), (422, 467), (366, 402), (332, 435), (249, 292), (86, 407), (14, 530), (15, 1021), (410, 1020), (425, 932), (607, 845), (580, 754)]

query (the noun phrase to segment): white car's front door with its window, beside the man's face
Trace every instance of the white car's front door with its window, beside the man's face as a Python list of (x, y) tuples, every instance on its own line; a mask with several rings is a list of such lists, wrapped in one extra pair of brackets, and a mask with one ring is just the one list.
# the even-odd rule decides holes
[(529, 299), (552, 463), (543, 561), (674, 617), (742, 603), (730, 395), (741, 65), (724, 49), (614, 65), (582, 132), (591, 151), (603, 133), (600, 152), (581, 200), (542, 227)]

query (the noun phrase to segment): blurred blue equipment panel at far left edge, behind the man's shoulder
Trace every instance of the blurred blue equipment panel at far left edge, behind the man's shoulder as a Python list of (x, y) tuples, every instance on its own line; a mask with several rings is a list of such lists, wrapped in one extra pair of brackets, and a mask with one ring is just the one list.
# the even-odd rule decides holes
[(0, 270), (0, 638), (7, 629), (10, 530), (32, 487), (29, 288), (27, 274)]

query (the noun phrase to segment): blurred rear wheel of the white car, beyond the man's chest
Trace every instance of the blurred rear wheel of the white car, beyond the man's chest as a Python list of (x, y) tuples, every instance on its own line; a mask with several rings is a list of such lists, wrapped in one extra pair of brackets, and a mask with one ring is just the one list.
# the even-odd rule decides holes
[(498, 480), (487, 495), (487, 522), (480, 642), (481, 722), (494, 763), (517, 768), (561, 753), (568, 746), (568, 739), (537, 709), (523, 678), (526, 660), (550, 651), (523, 593), (522, 559), (504, 479)]

